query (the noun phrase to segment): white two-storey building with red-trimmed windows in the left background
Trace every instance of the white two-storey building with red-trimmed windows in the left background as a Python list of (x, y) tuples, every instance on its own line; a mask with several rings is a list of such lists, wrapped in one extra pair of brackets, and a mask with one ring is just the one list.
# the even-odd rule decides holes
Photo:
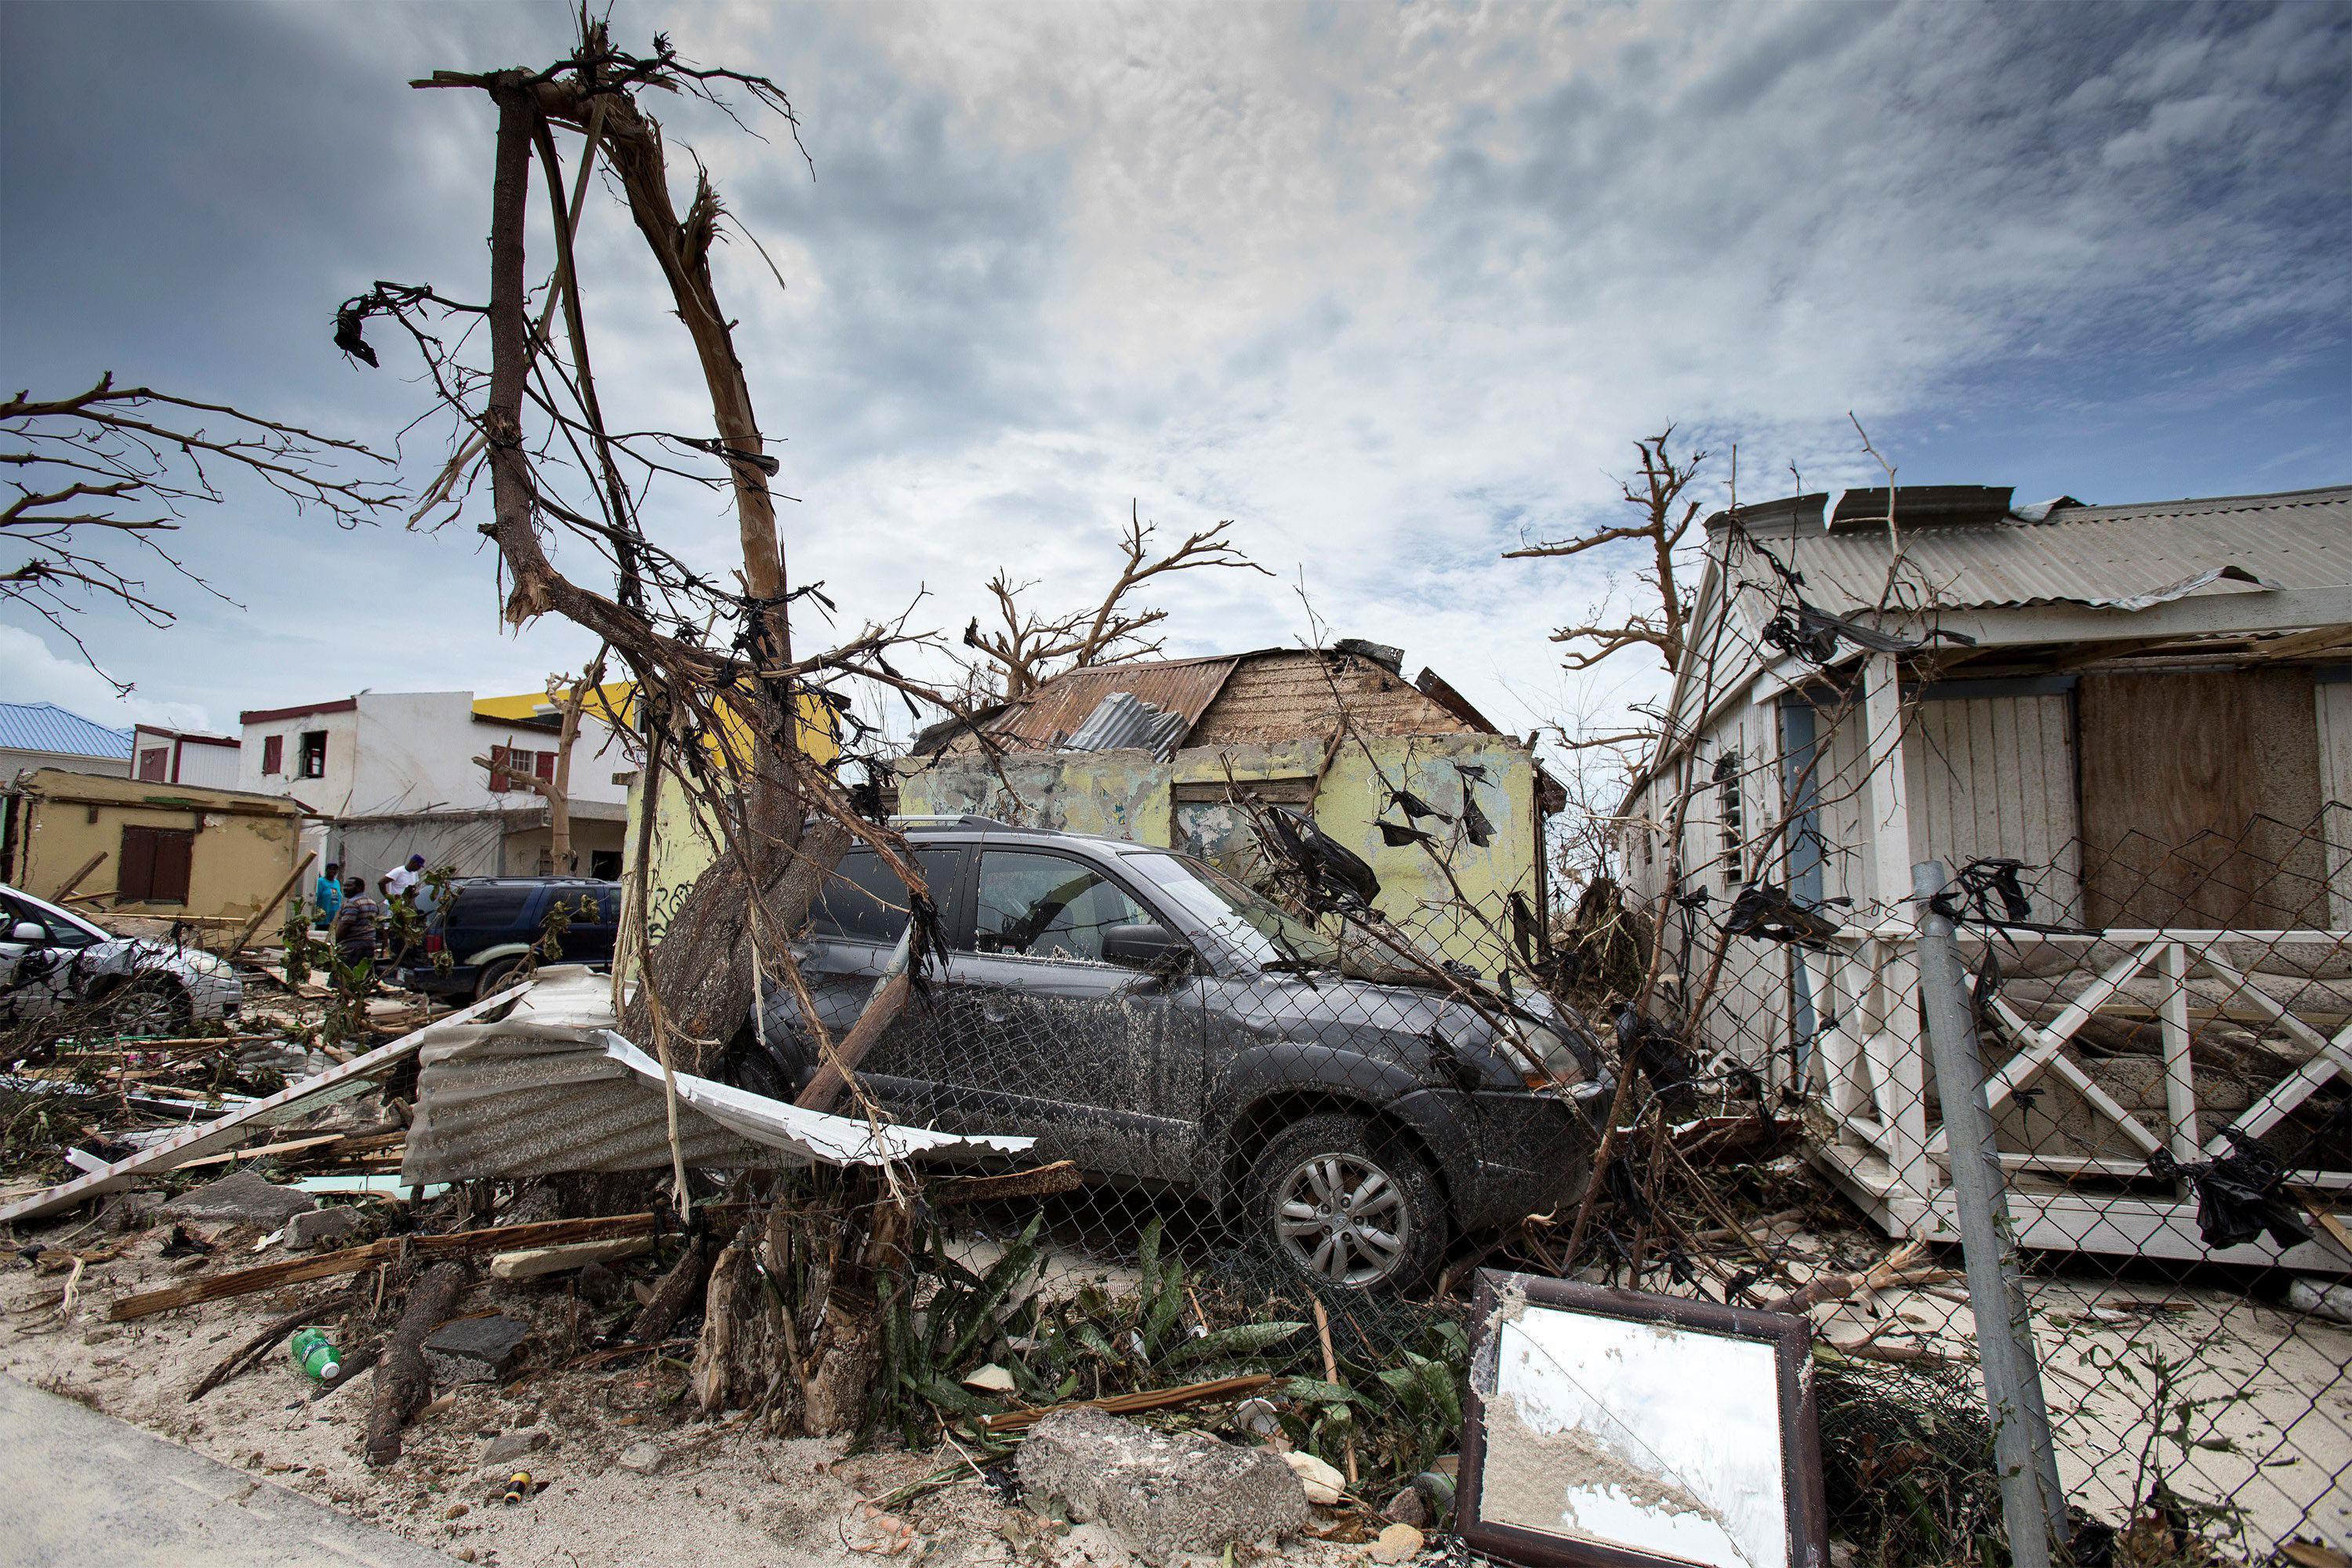
[[(494, 698), (492, 698), (494, 701)], [(360, 691), (249, 710), (238, 788), (327, 818), (325, 860), (374, 882), (412, 853), (466, 877), (539, 875), (548, 804), (522, 776), (555, 776), (557, 722), (489, 717), (470, 691)], [(510, 762), (496, 773), (475, 757)], [(628, 769), (612, 729), (581, 717), (572, 748), (572, 849), (583, 875), (619, 877)]]

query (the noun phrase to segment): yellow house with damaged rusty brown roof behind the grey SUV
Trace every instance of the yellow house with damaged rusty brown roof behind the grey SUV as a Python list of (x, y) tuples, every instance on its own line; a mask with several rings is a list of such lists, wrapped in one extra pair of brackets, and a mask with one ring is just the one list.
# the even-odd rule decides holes
[(1089, 665), (981, 719), (934, 724), (898, 811), (993, 816), (1258, 870), (1247, 804), (1310, 816), (1381, 882), (1376, 907), (1494, 973), (1510, 907), (1545, 910), (1543, 818), (1559, 785), (1399, 649), (1258, 649)]

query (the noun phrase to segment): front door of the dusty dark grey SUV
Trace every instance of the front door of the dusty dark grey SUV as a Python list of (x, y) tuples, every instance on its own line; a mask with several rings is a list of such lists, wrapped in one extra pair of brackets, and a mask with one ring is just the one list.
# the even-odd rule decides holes
[(948, 976), (953, 1079), (941, 1091), (957, 1103), (943, 1124), (1037, 1135), (1040, 1154), (1096, 1175), (1188, 1182), (1200, 985), (1103, 959), (1103, 931), (1145, 922), (1169, 924), (1098, 863), (985, 844)]

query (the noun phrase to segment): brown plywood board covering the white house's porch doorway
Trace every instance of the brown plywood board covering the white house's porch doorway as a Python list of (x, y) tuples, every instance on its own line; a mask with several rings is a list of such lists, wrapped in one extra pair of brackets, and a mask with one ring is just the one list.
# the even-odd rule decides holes
[(2074, 696), (2093, 926), (2326, 922), (2307, 670), (2086, 675)]

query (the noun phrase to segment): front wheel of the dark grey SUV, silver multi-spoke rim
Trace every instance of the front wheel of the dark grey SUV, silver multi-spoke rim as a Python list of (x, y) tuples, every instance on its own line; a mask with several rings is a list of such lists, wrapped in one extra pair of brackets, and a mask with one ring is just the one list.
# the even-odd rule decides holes
[(1251, 1173), (1251, 1215), (1275, 1255), (1341, 1291), (1411, 1291), (1446, 1248), (1430, 1164), (1362, 1117), (1305, 1117), (1275, 1133)]

